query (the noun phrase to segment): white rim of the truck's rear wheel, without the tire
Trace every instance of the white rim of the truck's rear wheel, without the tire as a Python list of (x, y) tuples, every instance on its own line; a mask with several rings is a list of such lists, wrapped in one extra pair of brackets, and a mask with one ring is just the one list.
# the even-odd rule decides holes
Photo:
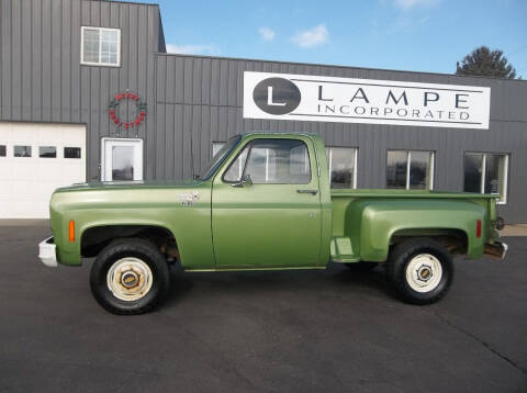
[(442, 267), (431, 254), (419, 254), (406, 266), (406, 282), (416, 292), (430, 292), (439, 285)]

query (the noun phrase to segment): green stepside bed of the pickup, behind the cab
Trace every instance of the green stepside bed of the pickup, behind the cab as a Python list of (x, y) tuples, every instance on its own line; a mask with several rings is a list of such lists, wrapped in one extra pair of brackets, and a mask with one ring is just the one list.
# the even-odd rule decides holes
[[(332, 189), (332, 259), (384, 261), (386, 245), (394, 236), (408, 235), (408, 228), (423, 235), (462, 234), (468, 237), (468, 256), (479, 257), (482, 239), (469, 234), (474, 232), (475, 217), (486, 211), (489, 218), (493, 215), (494, 203), (489, 202), (496, 198), (470, 192)], [(486, 231), (490, 220), (482, 226)]]

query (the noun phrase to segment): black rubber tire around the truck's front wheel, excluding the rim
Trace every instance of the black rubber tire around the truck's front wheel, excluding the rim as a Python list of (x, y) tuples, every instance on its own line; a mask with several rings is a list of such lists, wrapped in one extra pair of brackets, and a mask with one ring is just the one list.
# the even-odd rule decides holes
[[(126, 257), (139, 259), (152, 271), (152, 288), (138, 300), (116, 297), (106, 283), (106, 276), (113, 263)], [(147, 313), (162, 301), (169, 287), (170, 271), (165, 257), (154, 244), (145, 239), (126, 238), (112, 242), (102, 249), (91, 267), (91, 293), (101, 306), (113, 314)]]

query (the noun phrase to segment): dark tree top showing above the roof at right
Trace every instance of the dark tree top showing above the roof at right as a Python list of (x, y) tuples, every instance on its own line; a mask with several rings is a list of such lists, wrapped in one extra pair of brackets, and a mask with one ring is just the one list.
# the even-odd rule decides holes
[(479, 75), (496, 78), (516, 78), (516, 69), (503, 56), (503, 50), (491, 50), (480, 46), (463, 57), (461, 65), (457, 64), (456, 75)]

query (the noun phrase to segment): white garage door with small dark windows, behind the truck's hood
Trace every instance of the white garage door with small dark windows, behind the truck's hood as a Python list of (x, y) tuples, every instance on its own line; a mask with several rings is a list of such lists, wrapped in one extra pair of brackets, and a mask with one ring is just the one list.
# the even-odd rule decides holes
[(86, 181), (86, 127), (0, 122), (0, 218), (47, 218), (58, 187)]

